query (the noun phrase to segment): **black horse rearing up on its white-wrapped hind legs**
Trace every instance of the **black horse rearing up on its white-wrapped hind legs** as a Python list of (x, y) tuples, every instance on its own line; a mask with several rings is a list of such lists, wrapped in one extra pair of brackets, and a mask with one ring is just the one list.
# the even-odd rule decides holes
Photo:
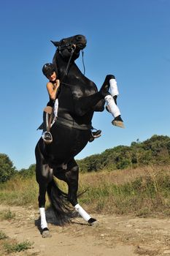
[[(58, 118), (50, 129), (53, 143), (46, 145), (40, 138), (35, 149), (43, 237), (50, 235), (45, 217), (46, 192), (58, 219), (65, 221), (66, 214), (71, 211), (67, 200), (90, 225), (96, 222), (77, 202), (79, 167), (74, 157), (90, 139), (94, 111), (104, 110), (104, 97), (109, 94), (108, 81), (112, 75), (107, 75), (98, 91), (95, 83), (82, 74), (74, 61), (80, 56), (86, 42), (82, 35), (53, 42), (57, 47), (53, 64), (61, 80)], [(68, 184), (68, 194), (58, 188), (54, 176)]]

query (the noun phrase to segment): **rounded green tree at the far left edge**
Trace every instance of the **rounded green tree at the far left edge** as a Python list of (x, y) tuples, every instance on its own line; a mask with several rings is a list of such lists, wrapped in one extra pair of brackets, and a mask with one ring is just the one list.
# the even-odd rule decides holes
[(7, 154), (0, 154), (0, 183), (8, 181), (15, 173), (16, 169)]

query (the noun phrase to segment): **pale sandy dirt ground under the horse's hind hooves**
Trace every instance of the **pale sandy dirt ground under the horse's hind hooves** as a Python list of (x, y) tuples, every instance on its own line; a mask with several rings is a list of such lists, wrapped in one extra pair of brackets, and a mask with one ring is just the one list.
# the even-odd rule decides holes
[[(51, 238), (39, 232), (39, 211), (16, 206), (1, 206), (15, 218), (2, 220), (0, 230), (18, 242), (34, 242), (31, 249), (10, 255), (42, 256), (170, 256), (170, 219), (106, 216), (98, 214), (98, 224), (89, 226), (80, 217), (69, 225), (49, 224)], [(53, 216), (48, 217), (53, 222)], [(0, 252), (1, 255), (1, 252)]]

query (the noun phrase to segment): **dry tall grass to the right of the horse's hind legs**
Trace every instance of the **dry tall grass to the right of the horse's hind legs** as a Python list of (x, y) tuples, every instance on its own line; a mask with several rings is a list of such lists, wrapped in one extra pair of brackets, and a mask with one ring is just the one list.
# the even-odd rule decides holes
[(80, 198), (90, 211), (134, 214), (141, 217), (170, 214), (169, 166), (107, 170), (80, 176)]

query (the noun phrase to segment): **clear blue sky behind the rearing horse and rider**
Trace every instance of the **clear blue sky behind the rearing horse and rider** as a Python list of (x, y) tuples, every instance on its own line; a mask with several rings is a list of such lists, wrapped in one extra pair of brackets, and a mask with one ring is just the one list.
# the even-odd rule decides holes
[[(42, 66), (53, 59), (50, 40), (84, 34), (85, 75), (100, 89), (117, 78), (125, 129), (106, 110), (95, 113), (102, 130), (77, 156), (82, 159), (152, 135), (170, 136), (169, 0), (8, 0), (0, 8), (0, 153), (20, 170), (35, 163), (42, 110), (48, 96)], [(77, 66), (83, 72), (82, 58)]]

